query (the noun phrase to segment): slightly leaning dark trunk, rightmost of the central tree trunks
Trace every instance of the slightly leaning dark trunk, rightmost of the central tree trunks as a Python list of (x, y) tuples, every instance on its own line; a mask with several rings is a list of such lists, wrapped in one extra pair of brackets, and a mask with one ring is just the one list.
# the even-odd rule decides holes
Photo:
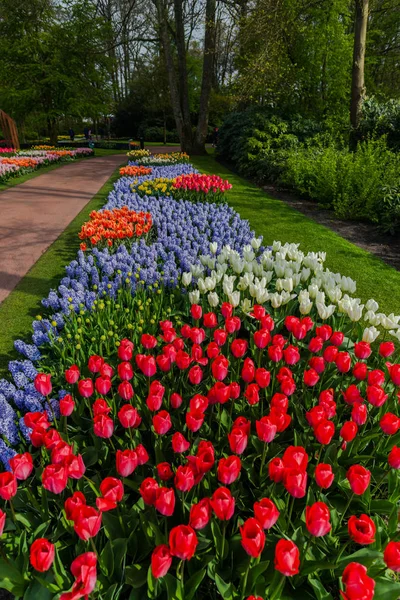
[(192, 152), (206, 154), (206, 137), (208, 129), (208, 114), (210, 107), (211, 87), (214, 75), (215, 59), (215, 10), (216, 0), (207, 0), (206, 25), (204, 33), (203, 76), (201, 81), (199, 120), (196, 129), (196, 139)]

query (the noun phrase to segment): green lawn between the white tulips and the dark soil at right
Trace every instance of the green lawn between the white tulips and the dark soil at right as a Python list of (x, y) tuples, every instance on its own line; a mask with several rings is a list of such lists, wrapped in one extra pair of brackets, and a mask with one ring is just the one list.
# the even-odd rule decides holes
[(243, 219), (249, 220), (258, 235), (264, 236), (266, 244), (274, 240), (296, 242), (303, 251), (326, 252), (326, 266), (355, 279), (358, 296), (363, 301), (375, 298), (383, 312), (400, 314), (400, 272), (284, 202), (271, 198), (213, 157), (193, 157), (191, 162), (205, 173), (229, 179), (233, 185), (228, 192), (229, 203)]

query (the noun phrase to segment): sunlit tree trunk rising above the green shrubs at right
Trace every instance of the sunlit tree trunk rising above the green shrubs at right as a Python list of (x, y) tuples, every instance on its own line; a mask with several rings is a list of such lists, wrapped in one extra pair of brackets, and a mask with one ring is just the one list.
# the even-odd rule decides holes
[(355, 0), (353, 73), (351, 80), (350, 122), (353, 130), (360, 124), (362, 101), (365, 96), (364, 61), (367, 40), (369, 0)]

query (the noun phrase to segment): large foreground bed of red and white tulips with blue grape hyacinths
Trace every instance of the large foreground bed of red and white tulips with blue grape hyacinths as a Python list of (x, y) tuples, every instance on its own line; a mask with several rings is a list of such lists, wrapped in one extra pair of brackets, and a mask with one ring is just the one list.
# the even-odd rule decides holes
[(399, 317), (224, 204), (131, 185), (95, 218), (156, 238), (79, 252), (0, 382), (0, 585), (396, 600)]

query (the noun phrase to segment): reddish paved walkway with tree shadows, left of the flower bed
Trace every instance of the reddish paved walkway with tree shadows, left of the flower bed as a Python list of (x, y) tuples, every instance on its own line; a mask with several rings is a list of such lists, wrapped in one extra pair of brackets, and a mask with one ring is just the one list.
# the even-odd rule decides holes
[(126, 160), (81, 159), (0, 193), (0, 302)]

